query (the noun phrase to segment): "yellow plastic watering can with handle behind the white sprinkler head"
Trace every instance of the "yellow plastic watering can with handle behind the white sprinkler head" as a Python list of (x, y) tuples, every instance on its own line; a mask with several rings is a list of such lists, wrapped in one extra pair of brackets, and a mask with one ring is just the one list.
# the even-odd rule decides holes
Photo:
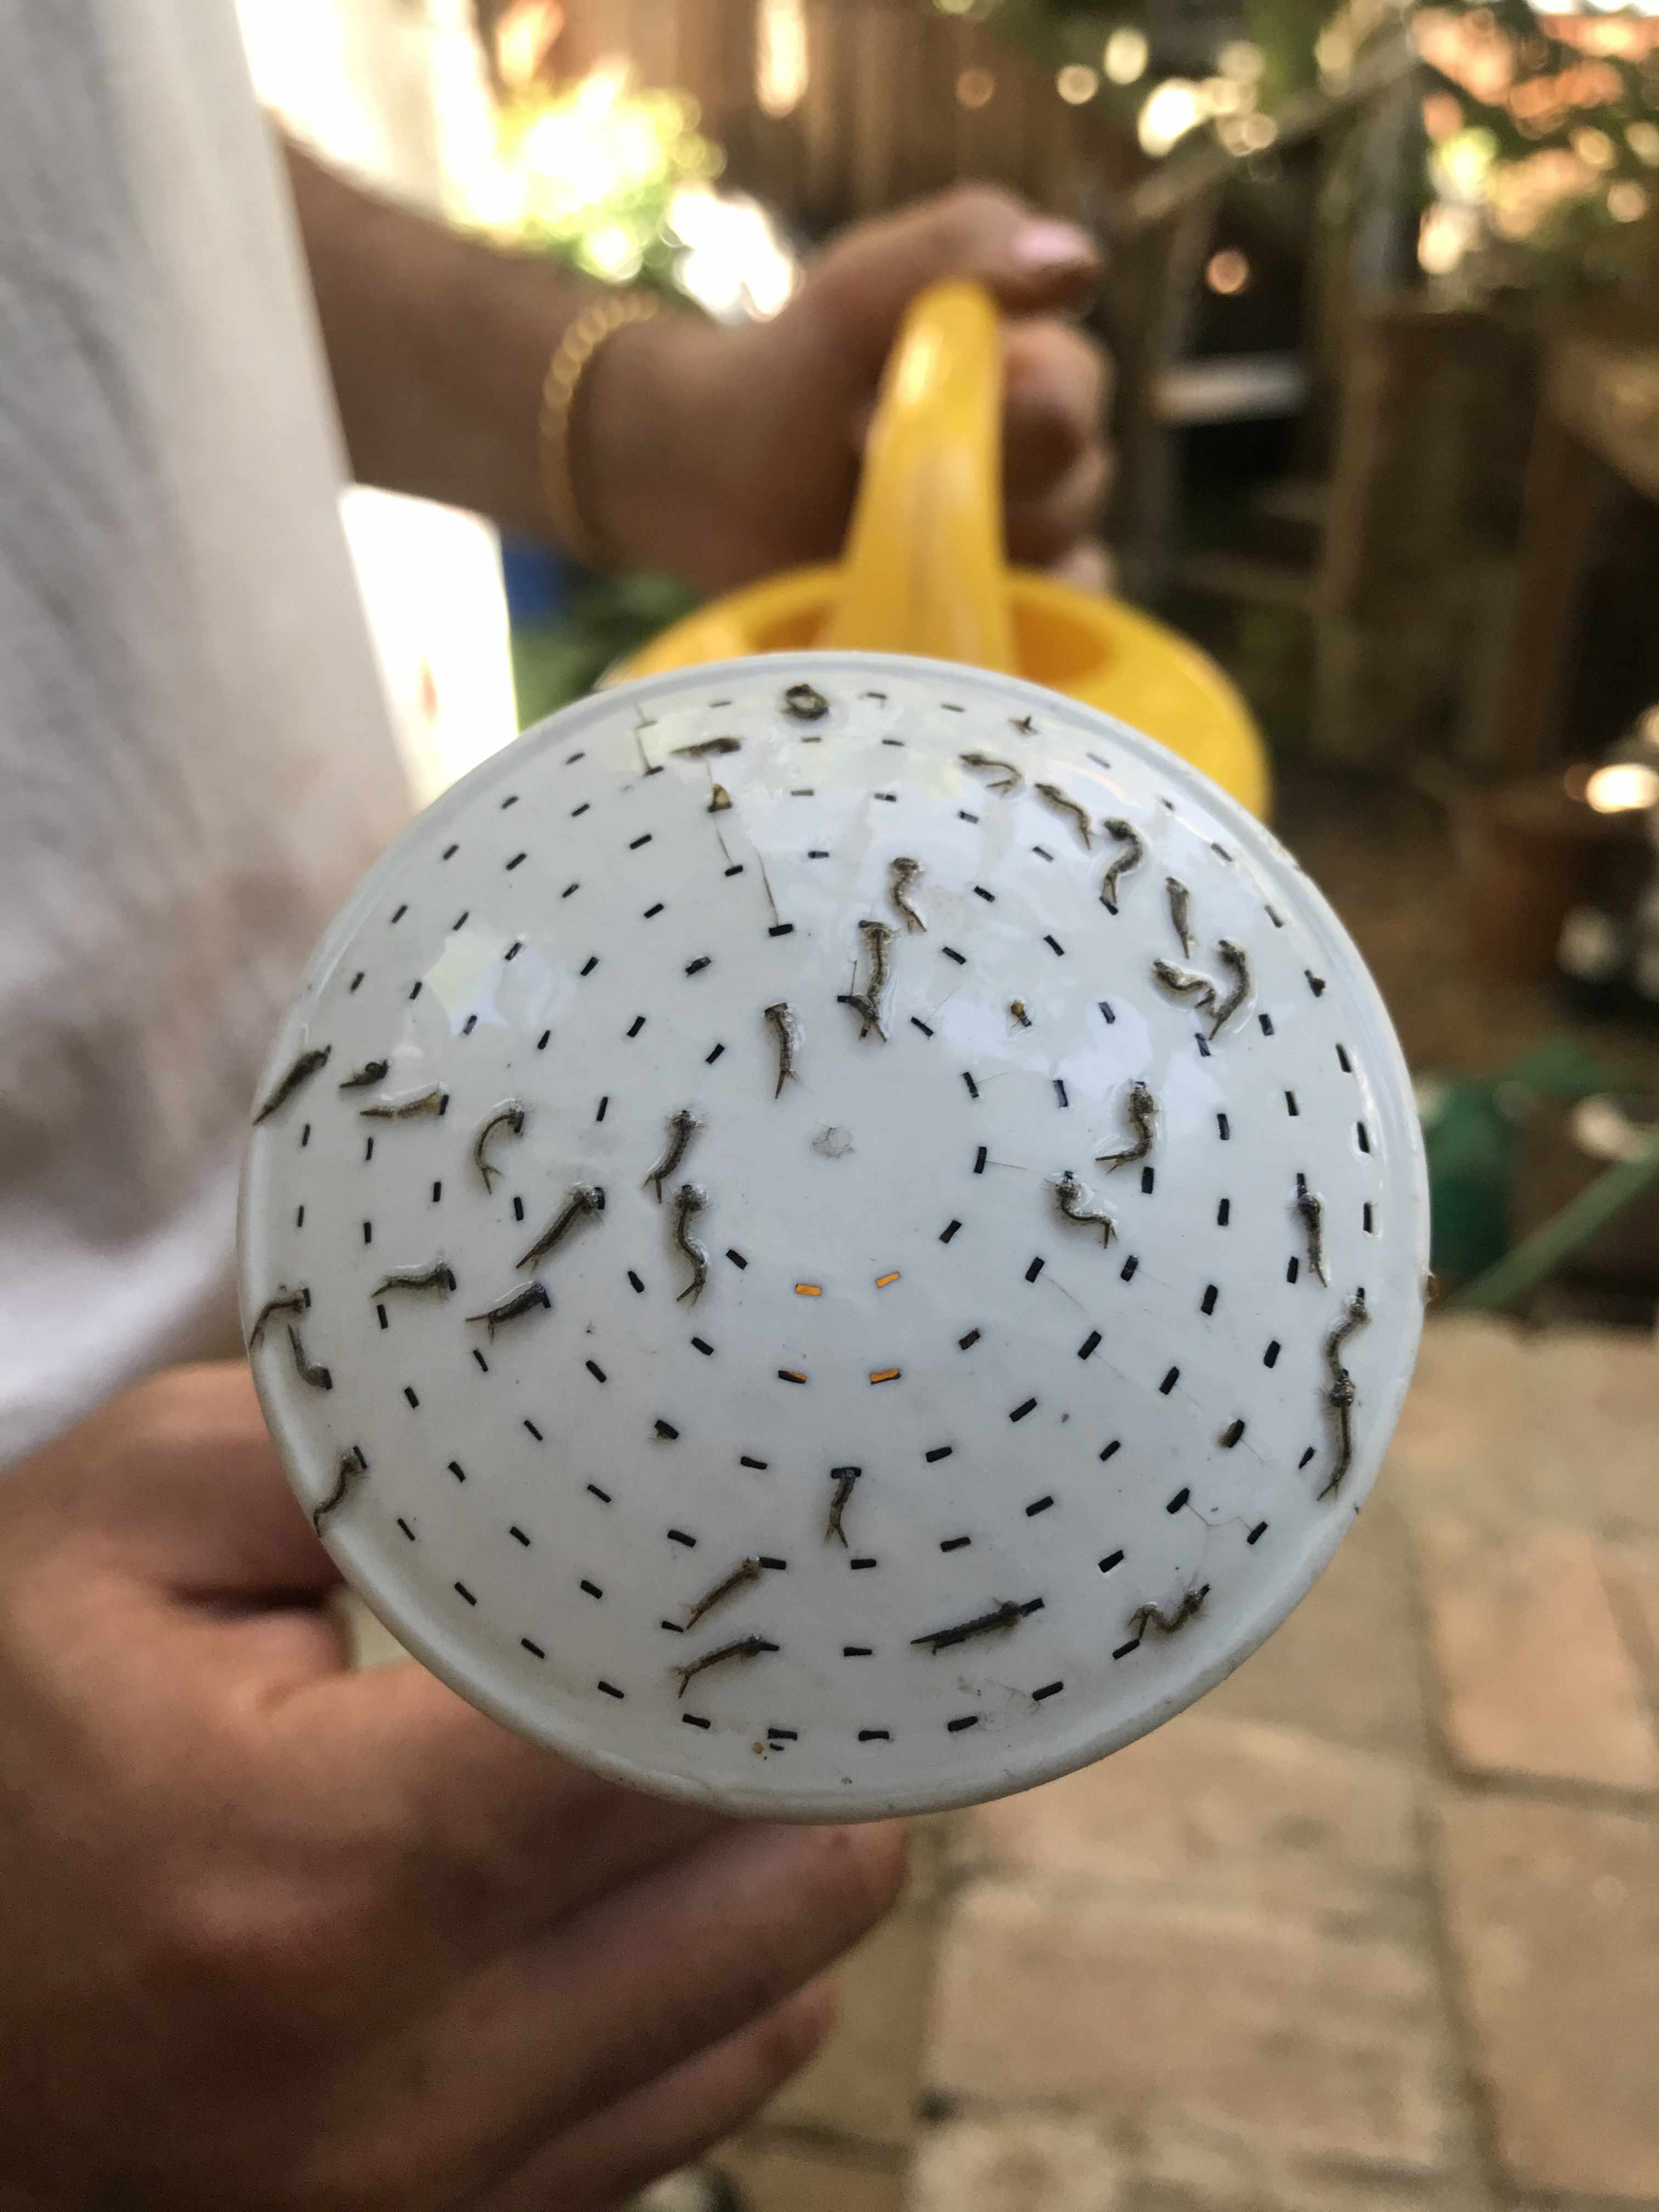
[(1265, 814), (1261, 732), (1208, 655), (1117, 599), (1006, 566), (1000, 456), (995, 305), (936, 283), (883, 376), (845, 560), (710, 602), (613, 679), (805, 646), (1002, 668), (1117, 714)]

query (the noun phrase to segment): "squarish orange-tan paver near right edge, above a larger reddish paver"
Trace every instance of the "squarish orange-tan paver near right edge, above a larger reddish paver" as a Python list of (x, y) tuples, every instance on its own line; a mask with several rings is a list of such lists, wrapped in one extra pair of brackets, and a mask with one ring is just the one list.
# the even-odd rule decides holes
[(1659, 1787), (1659, 1739), (1590, 1537), (1559, 1526), (1495, 1537), (1433, 1520), (1420, 1528), (1420, 1559), (1458, 1765)]

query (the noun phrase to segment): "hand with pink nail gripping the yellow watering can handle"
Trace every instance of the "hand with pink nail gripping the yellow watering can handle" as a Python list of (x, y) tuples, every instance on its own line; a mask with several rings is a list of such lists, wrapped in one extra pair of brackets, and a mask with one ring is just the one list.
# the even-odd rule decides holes
[(1004, 310), (1009, 555), (1066, 562), (1110, 482), (1106, 358), (1057, 310), (1099, 274), (1088, 237), (991, 186), (860, 223), (772, 323), (659, 316), (617, 332), (584, 383), (577, 482), (628, 566), (708, 591), (841, 551), (880, 372), (909, 301), (973, 276)]

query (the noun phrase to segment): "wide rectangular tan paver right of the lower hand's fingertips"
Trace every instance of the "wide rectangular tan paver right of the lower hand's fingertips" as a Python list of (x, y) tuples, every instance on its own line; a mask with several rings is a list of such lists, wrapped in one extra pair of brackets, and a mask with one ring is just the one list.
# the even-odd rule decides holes
[(1411, 2172), (1440, 2157), (1438, 2051), (1433, 1978), (1407, 1944), (987, 1880), (945, 1936), (929, 2079)]

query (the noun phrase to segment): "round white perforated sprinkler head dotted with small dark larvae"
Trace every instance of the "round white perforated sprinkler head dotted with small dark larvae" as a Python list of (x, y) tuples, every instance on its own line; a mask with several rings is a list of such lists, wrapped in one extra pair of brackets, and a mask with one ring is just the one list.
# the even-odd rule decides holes
[(358, 887), (259, 1104), (250, 1356), (345, 1575), (509, 1728), (732, 1812), (1166, 1721), (1314, 1584), (1416, 1356), (1411, 1091), (1332, 909), (1159, 745), (942, 661), (540, 723)]

